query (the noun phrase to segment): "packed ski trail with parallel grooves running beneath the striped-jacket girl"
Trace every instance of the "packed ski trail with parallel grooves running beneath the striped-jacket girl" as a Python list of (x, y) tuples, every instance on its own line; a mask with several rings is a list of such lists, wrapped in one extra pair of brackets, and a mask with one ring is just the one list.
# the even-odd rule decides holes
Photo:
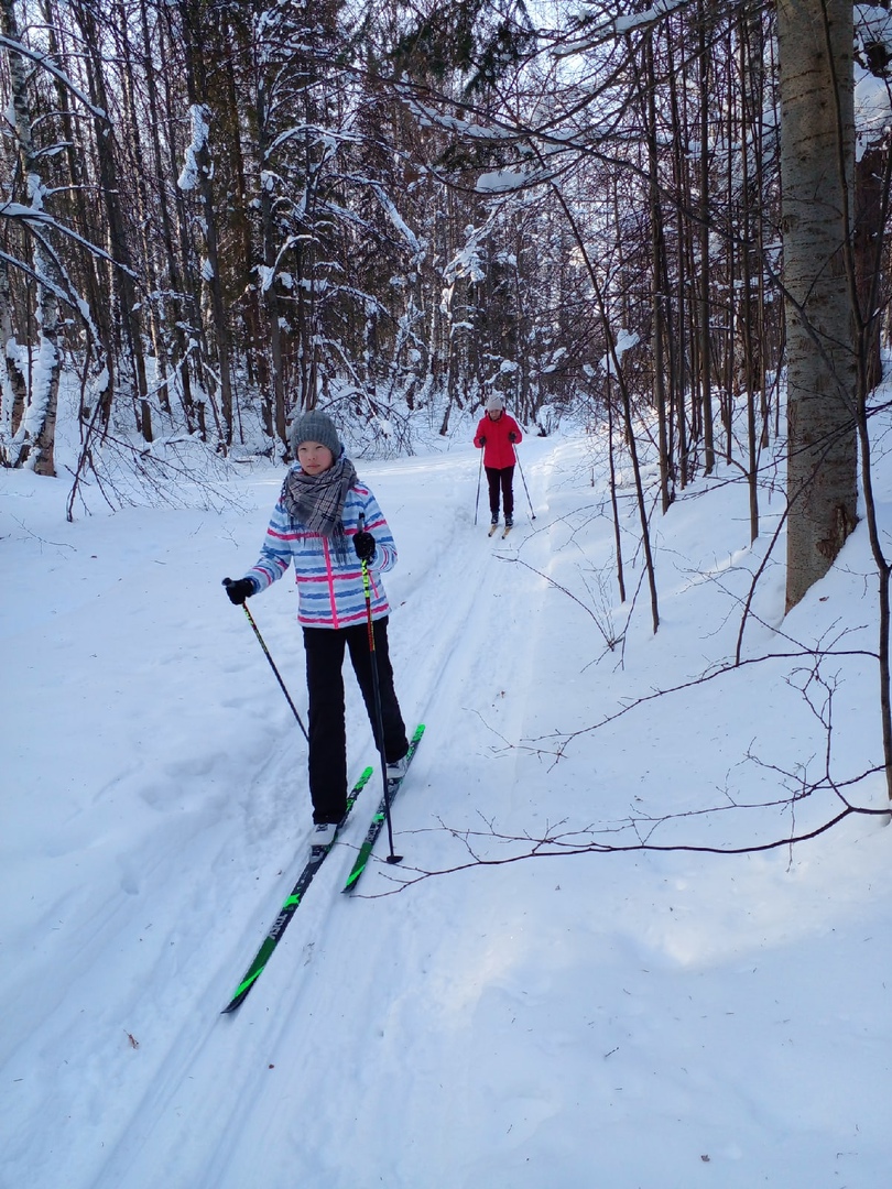
[[(488, 539), (485, 524), (472, 524), (475, 458), (446, 455), (359, 467), (385, 510), (401, 553), (400, 566), (387, 579), (398, 697), (407, 724), (427, 723), (425, 746), (395, 806), (397, 851), (406, 855), (409, 877), (419, 860), (436, 866), (445, 843), (448, 849), (451, 836), (440, 828), (441, 819), (479, 825), (489, 800), (485, 770), (494, 755), (500, 779), (508, 787), (514, 784), (515, 759), (508, 741), (516, 737), (523, 719), (534, 654), (530, 641), (544, 584), (523, 574), (510, 559), (545, 523), (540, 508), (551, 473), (548, 446), (540, 446), (538, 465), (527, 468), (530, 493), (539, 502), (536, 526), (517, 515), (504, 542)], [(406, 472), (412, 470), (417, 470), (423, 486), (410, 507), (395, 507), (388, 496), (388, 477), (400, 471), (404, 485)], [(264, 608), (264, 621), (271, 622), (274, 614), (282, 612)], [(276, 630), (282, 634), (282, 625)], [(258, 655), (258, 667), (260, 662)], [(294, 678), (293, 669), (289, 684), (302, 706), (302, 674)], [(348, 666), (345, 679), (352, 773), (376, 757)], [(270, 686), (270, 700), (277, 697)], [(465, 762), (445, 769), (445, 746), (454, 747), (459, 737), (469, 741)], [(285, 750), (297, 767), (291, 779), (300, 785), (306, 759), (296, 731)], [(263, 782), (281, 780), (284, 767), (283, 762), (271, 765), (251, 795), (275, 803), (276, 789)], [(250, 908), (239, 906), (240, 926), (228, 958), (208, 973), (200, 1000), (174, 1031), (138, 1113), (121, 1126), (90, 1189), (155, 1189), (158, 1183), (244, 1189), (257, 1168), (257, 1152), (245, 1137), (282, 1128), (293, 1128), (295, 1134), (294, 1179), (274, 1174), (264, 1178), (269, 1189), (293, 1183), (325, 1183), (331, 1189), (350, 1183), (362, 1189), (379, 1183), (377, 1175), (364, 1179), (362, 1170), (350, 1178), (343, 1169), (339, 1172), (331, 1135), (313, 1122), (320, 1103), (352, 1096), (351, 1080), (360, 1096), (379, 1093), (376, 1070), (382, 1058), (373, 1039), (368, 1042), (371, 1048), (362, 1069), (345, 1072), (338, 1052), (341, 1046), (346, 1052), (362, 1049), (364, 1036), (377, 1037), (385, 1048), (390, 1043), (388, 1000), (400, 1000), (401, 968), (423, 960), (429, 946), (425, 930), (429, 900), (442, 894), (442, 881), (438, 881), (429, 893), (420, 887), (388, 895), (398, 886), (401, 868), (381, 862), (382, 839), (357, 897), (338, 894), (375, 809), (378, 779), (376, 765), (352, 820), (263, 979), (238, 1013), (219, 1017), (233, 973), (238, 974), (264, 924), (275, 917), (281, 894), (303, 861), (302, 842), (293, 831), (299, 854), (290, 868), (285, 866), (275, 881), (262, 875), (246, 889)], [(294, 795), (303, 798), (306, 792), (295, 789)], [(283, 849), (288, 848), (278, 843), (279, 855)], [(453, 919), (475, 911), (469, 883), (456, 881), (447, 894)], [(238, 898), (234, 901), (238, 905)], [(357, 952), (366, 954), (363, 964), (357, 964)], [(390, 988), (384, 1000), (376, 994), (382, 983)], [(207, 1096), (208, 1084), (215, 1087), (212, 1096)], [(333, 1106), (327, 1109), (338, 1114)], [(215, 1137), (213, 1143), (211, 1137)], [(214, 1153), (211, 1162), (209, 1150)]]

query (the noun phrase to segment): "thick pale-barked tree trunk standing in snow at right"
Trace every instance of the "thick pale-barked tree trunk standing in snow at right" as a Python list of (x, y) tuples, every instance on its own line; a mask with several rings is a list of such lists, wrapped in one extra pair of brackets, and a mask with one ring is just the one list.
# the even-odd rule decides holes
[(852, 0), (779, 0), (790, 610), (856, 520)]

